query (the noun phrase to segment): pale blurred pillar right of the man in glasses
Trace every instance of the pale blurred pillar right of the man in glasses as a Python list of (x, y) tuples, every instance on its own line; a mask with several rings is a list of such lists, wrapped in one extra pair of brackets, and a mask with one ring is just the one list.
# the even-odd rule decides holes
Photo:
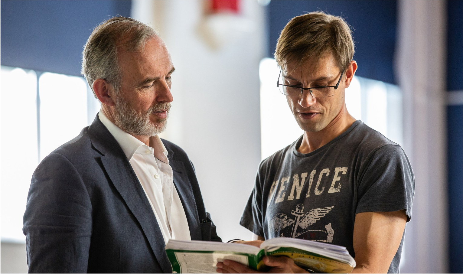
[(398, 13), (404, 149), (416, 181), (401, 271), (447, 273), (446, 1), (400, 0)]

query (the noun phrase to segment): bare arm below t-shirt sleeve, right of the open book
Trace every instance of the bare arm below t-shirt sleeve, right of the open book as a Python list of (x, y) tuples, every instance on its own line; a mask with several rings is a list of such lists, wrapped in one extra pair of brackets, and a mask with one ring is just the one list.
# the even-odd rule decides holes
[(357, 213), (353, 237), (356, 269), (387, 273), (399, 249), (406, 222), (405, 210)]

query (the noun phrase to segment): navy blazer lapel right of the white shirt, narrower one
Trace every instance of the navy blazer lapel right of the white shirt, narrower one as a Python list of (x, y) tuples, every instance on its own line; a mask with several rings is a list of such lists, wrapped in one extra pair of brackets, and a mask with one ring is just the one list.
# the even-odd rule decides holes
[(173, 152), (168, 149), (169, 164), (172, 167), (174, 174), (174, 185), (177, 193), (180, 196), (183, 210), (187, 216), (188, 228), (192, 240), (201, 240), (200, 218), (198, 209), (196, 208), (196, 200), (194, 199), (193, 189), (188, 180), (188, 175), (183, 162), (172, 159)]

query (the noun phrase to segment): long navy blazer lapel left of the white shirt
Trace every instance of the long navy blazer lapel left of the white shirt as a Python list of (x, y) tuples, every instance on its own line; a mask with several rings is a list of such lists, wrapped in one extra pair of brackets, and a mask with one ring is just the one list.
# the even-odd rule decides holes
[(103, 154), (100, 159), (114, 187), (138, 220), (163, 272), (170, 273), (172, 268), (164, 250), (163, 235), (143, 187), (124, 152), (101, 123), (98, 115), (89, 127), (89, 132), (92, 133), (91, 139), (94, 148)]

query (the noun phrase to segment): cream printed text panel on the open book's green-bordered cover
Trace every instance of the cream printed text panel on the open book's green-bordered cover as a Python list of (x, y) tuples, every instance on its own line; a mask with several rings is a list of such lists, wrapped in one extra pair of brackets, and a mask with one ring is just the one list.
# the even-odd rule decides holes
[(217, 273), (217, 262), (224, 260), (249, 265), (248, 256), (226, 252), (175, 252), (175, 258), (180, 265), (180, 273)]

